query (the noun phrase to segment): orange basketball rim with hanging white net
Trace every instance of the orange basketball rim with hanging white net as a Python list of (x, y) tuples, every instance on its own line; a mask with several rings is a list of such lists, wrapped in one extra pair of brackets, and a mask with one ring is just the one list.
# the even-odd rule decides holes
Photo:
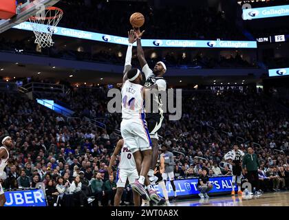
[(56, 32), (56, 26), (63, 16), (63, 10), (56, 7), (49, 7), (30, 17), (33, 32), (35, 34), (35, 43), (39, 47), (51, 47), (54, 45), (52, 34)]

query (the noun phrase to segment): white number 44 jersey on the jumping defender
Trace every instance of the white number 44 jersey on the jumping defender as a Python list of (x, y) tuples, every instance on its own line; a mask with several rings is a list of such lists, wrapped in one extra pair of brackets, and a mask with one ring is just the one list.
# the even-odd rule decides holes
[(142, 85), (125, 81), (122, 85), (122, 119), (144, 119), (144, 100), (142, 97)]

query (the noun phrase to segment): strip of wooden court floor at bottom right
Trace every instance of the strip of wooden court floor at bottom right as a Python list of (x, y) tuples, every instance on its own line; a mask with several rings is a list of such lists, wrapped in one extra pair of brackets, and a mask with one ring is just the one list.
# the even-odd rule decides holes
[(171, 206), (289, 206), (289, 192), (266, 192), (259, 196), (210, 197), (175, 201)]

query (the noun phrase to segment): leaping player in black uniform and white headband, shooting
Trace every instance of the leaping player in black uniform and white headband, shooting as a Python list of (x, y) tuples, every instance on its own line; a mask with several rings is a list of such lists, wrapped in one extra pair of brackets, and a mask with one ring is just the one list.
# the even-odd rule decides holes
[[(145, 80), (144, 83), (145, 87), (151, 87), (151, 89), (156, 89), (156, 91), (166, 91), (167, 90), (167, 82), (164, 80), (162, 76), (167, 72), (167, 67), (159, 61), (156, 63), (153, 70), (149, 68), (147, 65), (147, 61), (144, 58), (144, 52), (142, 50), (142, 44), (140, 40), (140, 36), (142, 36), (143, 32), (140, 33), (140, 28), (135, 29), (136, 36), (137, 36), (137, 50), (138, 50), (138, 61), (140, 62), (140, 67), (142, 67), (142, 72), (144, 72)], [(151, 166), (149, 169), (149, 180), (150, 184), (154, 185), (154, 177), (153, 173), (156, 168), (156, 162), (158, 159), (158, 130), (162, 126), (163, 110), (162, 110), (162, 99), (158, 92), (153, 93), (153, 99), (151, 100), (151, 107), (154, 105), (158, 106), (158, 110), (151, 110), (149, 113), (146, 114), (147, 126), (149, 128), (149, 134), (151, 135), (151, 141), (153, 142), (153, 157), (151, 159)]]

